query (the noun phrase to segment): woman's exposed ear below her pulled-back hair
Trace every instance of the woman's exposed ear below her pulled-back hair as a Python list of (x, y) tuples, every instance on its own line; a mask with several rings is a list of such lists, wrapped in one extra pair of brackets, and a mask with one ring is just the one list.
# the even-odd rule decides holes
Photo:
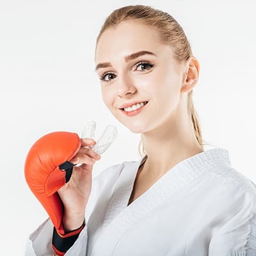
[(188, 93), (191, 91), (198, 81), (198, 75), (200, 70), (200, 65), (198, 60), (193, 56), (189, 58), (186, 65), (186, 72), (184, 73), (184, 79), (182, 81), (182, 87), (180, 92)]

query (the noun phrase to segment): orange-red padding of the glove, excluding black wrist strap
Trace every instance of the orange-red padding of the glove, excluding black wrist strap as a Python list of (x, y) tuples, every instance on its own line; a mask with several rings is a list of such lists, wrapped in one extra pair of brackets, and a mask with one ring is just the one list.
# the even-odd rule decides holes
[(76, 156), (80, 147), (81, 140), (76, 133), (51, 132), (33, 144), (24, 165), (29, 188), (59, 234), (65, 234), (65, 230), (63, 204), (57, 191), (70, 179), (73, 164), (68, 161)]

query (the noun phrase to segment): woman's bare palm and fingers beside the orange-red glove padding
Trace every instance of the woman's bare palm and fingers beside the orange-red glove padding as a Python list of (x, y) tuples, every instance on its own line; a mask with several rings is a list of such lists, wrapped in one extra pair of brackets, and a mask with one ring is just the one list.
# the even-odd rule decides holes
[(90, 146), (96, 145), (93, 139), (81, 138), (81, 147), (70, 163), (74, 166), (70, 180), (58, 190), (64, 206), (63, 227), (65, 231), (81, 227), (84, 221), (86, 204), (92, 190), (92, 170), (100, 155)]

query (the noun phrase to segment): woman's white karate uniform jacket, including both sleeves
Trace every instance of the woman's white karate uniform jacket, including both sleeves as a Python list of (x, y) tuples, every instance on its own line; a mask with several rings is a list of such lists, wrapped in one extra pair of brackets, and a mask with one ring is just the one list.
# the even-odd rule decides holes
[[(93, 178), (86, 226), (66, 256), (256, 256), (256, 186), (232, 168), (228, 150), (180, 161), (128, 205), (139, 161)], [(26, 255), (53, 255), (48, 219)]]

